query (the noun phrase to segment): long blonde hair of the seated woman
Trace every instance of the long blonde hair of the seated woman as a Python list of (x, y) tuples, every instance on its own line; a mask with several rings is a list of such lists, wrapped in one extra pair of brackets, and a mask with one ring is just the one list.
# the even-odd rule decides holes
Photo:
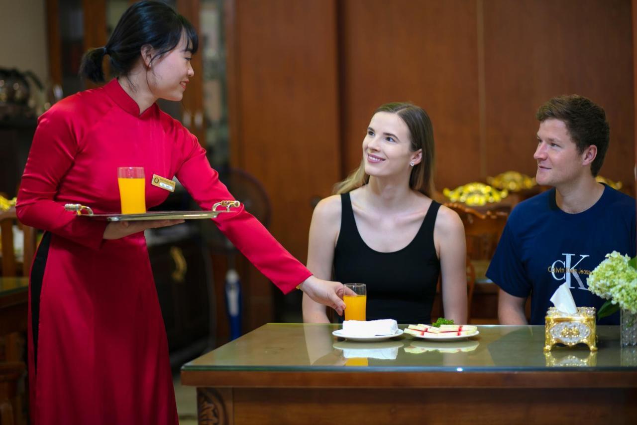
[[(401, 117), (410, 133), (412, 152), (422, 149), (422, 161), (413, 166), (409, 177), (409, 187), (431, 197), (434, 193), (434, 128), (427, 112), (411, 103), (385, 103), (378, 107), (374, 114), (378, 112), (390, 112)], [(334, 184), (332, 193), (336, 195), (347, 193), (368, 182), (369, 175), (365, 173), (363, 158), (361, 165), (352, 174)]]

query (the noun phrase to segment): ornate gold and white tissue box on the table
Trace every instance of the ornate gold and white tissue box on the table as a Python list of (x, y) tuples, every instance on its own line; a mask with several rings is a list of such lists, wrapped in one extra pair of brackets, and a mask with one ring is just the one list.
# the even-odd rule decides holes
[(557, 343), (566, 347), (588, 345), (597, 351), (597, 325), (594, 307), (578, 307), (577, 313), (562, 313), (555, 307), (548, 308), (544, 328), (544, 351), (550, 351)]

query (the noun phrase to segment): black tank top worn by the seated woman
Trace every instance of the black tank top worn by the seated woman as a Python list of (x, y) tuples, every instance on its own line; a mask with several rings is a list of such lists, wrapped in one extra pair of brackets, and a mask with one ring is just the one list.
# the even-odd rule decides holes
[(434, 225), (440, 204), (432, 200), (418, 233), (394, 252), (372, 250), (362, 240), (349, 193), (341, 195), (341, 231), (334, 249), (334, 279), (367, 285), (367, 320), (396, 319), (399, 324), (431, 323), (440, 260)]

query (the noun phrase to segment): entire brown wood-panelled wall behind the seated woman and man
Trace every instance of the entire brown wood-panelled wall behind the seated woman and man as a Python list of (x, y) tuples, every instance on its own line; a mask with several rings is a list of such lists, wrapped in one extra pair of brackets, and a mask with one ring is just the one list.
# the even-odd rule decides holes
[[(601, 174), (634, 183), (631, 0), (225, 1), (231, 163), (264, 184), (271, 231), (302, 260), (311, 198), (359, 165), (389, 101), (432, 117), (438, 190), (534, 175), (534, 114), (564, 93), (606, 109)], [(257, 317), (271, 285), (247, 267)]]

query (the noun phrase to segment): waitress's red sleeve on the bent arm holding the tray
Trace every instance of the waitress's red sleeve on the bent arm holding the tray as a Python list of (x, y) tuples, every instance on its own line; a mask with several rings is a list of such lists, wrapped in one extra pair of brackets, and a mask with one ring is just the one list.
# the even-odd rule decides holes
[(43, 114), (33, 137), (15, 209), (18, 220), (25, 225), (97, 249), (107, 223), (79, 218), (55, 201), (57, 188), (73, 166), (77, 151), (77, 137), (69, 114), (55, 107)]

